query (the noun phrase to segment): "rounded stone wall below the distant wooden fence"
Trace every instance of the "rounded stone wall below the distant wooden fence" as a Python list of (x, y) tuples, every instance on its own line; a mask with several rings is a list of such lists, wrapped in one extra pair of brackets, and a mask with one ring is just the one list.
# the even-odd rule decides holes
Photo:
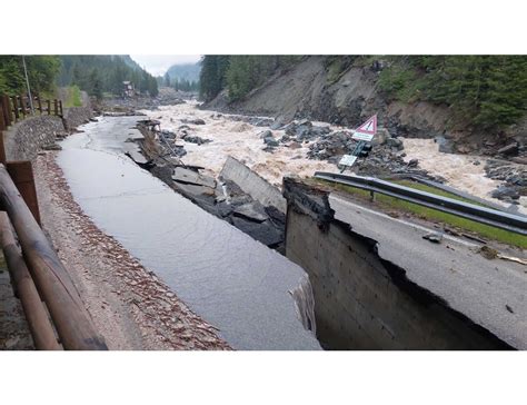
[(3, 132), (8, 160), (32, 160), (39, 150), (56, 142), (64, 132), (62, 119), (54, 116), (27, 118)]

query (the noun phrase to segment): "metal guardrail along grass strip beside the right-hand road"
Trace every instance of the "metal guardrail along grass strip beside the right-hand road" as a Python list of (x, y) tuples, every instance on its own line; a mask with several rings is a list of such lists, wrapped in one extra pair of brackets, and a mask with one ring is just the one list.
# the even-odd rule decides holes
[(386, 196), (399, 198), (443, 213), (453, 214), (480, 224), (490, 225), (520, 235), (527, 235), (527, 217), (524, 216), (504, 213), (448, 197), (437, 196), (435, 194), (396, 185), (374, 177), (339, 175), (325, 171), (315, 172), (315, 177), (360, 188), (370, 192), (384, 194)]

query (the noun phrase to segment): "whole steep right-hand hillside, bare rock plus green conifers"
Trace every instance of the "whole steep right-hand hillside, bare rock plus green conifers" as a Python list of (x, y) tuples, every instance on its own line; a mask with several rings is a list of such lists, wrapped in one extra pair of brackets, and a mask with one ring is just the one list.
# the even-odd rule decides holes
[(378, 113), (392, 136), (436, 137), (445, 151), (494, 155), (517, 144), (511, 155), (525, 155), (525, 57), (304, 57), (242, 97), (232, 97), (229, 69), (207, 108), (349, 127)]

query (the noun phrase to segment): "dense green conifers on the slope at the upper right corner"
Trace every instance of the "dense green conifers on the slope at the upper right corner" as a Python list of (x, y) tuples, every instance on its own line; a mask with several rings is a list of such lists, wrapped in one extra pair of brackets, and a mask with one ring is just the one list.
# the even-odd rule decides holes
[(445, 105), (456, 120), (489, 129), (526, 112), (525, 56), (408, 56), (387, 62), (379, 87), (390, 98)]

